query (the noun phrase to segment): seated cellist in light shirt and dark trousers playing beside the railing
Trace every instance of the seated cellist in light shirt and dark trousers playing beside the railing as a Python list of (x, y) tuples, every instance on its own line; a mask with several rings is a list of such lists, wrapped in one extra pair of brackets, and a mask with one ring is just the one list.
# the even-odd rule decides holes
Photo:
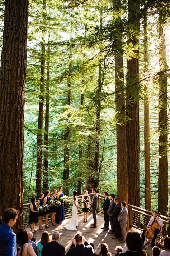
[[(150, 217), (149, 223), (147, 225), (147, 229), (149, 228), (150, 225), (152, 225), (153, 221), (155, 221), (157, 223), (157, 228), (155, 229), (154, 237), (152, 238), (152, 242), (151, 242), (152, 246), (155, 245), (154, 244), (155, 243), (155, 239), (156, 239), (157, 235), (160, 232), (160, 227), (164, 226), (161, 218), (157, 216), (157, 211), (153, 211), (152, 212), (152, 216)], [(143, 240), (143, 243), (144, 243), (144, 241), (145, 241), (145, 230), (143, 230), (143, 233), (142, 233), (142, 240)]]

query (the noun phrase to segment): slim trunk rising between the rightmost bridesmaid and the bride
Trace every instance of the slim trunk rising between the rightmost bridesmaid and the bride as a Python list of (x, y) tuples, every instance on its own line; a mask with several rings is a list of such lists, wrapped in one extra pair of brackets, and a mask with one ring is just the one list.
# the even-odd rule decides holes
[[(68, 76), (68, 93), (67, 93), (67, 105), (70, 106), (71, 99), (71, 58), (72, 58), (72, 49), (70, 48), (70, 57), (69, 57), (69, 76)], [(69, 158), (70, 158), (70, 114), (67, 115), (67, 125), (65, 127), (65, 148), (64, 148), (64, 172), (63, 172), (63, 181), (64, 181), (64, 192), (69, 195)]]

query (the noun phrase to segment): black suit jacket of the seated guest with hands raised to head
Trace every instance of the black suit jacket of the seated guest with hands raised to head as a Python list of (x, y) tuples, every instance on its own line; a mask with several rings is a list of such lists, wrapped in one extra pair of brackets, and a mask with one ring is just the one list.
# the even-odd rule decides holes
[(67, 252), (67, 256), (92, 256), (94, 250), (90, 244), (86, 241), (84, 244), (70, 246), (69, 251)]

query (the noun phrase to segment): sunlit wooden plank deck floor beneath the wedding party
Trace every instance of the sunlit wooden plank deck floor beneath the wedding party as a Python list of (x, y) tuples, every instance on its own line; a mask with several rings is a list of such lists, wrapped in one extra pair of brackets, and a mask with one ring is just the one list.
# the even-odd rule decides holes
[[(108, 234), (107, 232), (104, 232), (103, 229), (101, 229), (101, 226), (104, 225), (104, 218), (102, 214), (97, 214), (97, 228), (91, 229), (90, 228), (90, 223), (93, 223), (93, 217), (92, 214), (89, 213), (88, 215), (88, 223), (83, 222), (83, 215), (79, 214), (78, 215), (78, 222), (79, 222), (79, 227), (77, 227), (77, 231), (71, 231), (71, 230), (66, 230), (64, 228), (64, 225), (68, 224), (70, 222), (70, 218), (66, 218), (62, 224), (57, 224), (56, 226), (50, 226), (50, 228), (45, 228), (44, 227), (44, 222), (43, 222), (43, 230), (37, 230), (33, 234), (34, 237), (37, 238), (37, 242), (41, 238), (41, 234), (43, 231), (47, 230), (49, 232), (50, 238), (52, 238), (52, 233), (57, 230), (60, 233), (60, 243), (65, 246), (66, 252), (71, 246), (71, 239), (74, 237), (76, 233), (82, 233), (82, 235), (85, 236), (86, 240), (89, 243), (94, 243), (94, 250), (95, 253), (98, 253), (100, 251), (100, 246), (101, 243), (105, 242), (109, 246), (109, 252), (112, 253), (112, 256), (115, 255), (115, 247), (117, 245), (119, 246), (124, 246), (125, 243), (120, 243), (117, 239), (113, 240), (111, 239), (113, 237), (113, 234)], [(49, 222), (51, 224), (51, 221)], [(26, 230), (29, 231), (30, 227), (25, 226)], [(38, 228), (38, 224), (36, 225), (36, 228)], [(137, 230), (137, 229), (136, 229)], [(138, 230), (139, 231), (139, 230)], [(146, 251), (148, 254), (151, 256), (152, 255), (152, 247), (150, 244), (146, 246)]]

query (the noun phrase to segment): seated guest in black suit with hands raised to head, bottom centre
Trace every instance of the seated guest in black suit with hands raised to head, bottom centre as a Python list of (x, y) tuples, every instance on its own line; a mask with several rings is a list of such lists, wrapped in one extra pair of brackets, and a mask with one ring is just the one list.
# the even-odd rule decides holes
[(76, 234), (71, 239), (72, 245), (70, 246), (67, 256), (92, 256), (94, 253), (93, 247), (86, 241), (82, 234)]

